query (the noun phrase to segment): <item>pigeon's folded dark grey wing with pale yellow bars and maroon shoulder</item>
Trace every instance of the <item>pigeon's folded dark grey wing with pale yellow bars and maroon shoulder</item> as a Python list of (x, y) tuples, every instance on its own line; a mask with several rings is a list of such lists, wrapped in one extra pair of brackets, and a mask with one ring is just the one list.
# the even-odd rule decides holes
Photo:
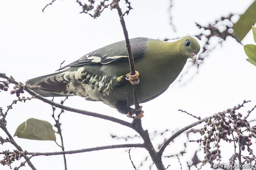
[[(138, 37), (130, 39), (132, 47), (132, 55), (134, 58), (142, 57), (147, 45), (147, 38)], [(59, 70), (67, 67), (84, 66), (91, 64), (108, 64), (113, 61), (128, 60), (127, 48), (125, 41), (119, 41), (113, 44), (109, 44), (105, 47), (94, 50), (78, 60), (60, 68)]]

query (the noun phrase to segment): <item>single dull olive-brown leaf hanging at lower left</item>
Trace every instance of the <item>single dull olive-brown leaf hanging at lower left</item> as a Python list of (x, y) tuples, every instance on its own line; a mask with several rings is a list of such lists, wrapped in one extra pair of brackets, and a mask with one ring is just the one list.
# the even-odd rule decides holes
[(34, 118), (20, 124), (14, 136), (32, 140), (56, 141), (55, 131), (52, 129), (51, 123)]

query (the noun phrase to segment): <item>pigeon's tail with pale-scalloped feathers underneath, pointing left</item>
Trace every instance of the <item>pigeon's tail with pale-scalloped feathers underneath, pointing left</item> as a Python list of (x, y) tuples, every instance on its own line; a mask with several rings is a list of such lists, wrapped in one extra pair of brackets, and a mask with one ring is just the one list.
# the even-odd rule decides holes
[(26, 81), (36, 93), (44, 97), (73, 96), (67, 91), (67, 84), (71, 80), (71, 71), (59, 71), (53, 74), (32, 78)]

